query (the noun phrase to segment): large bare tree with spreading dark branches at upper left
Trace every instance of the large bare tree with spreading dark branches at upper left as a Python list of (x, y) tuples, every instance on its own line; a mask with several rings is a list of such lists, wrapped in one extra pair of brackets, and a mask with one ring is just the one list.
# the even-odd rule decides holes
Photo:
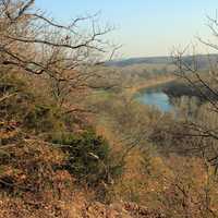
[(99, 26), (98, 14), (61, 25), (37, 10), (34, 0), (0, 0), (0, 65), (45, 75), (62, 104), (68, 93), (100, 76), (96, 65), (118, 49), (104, 39), (112, 29)]

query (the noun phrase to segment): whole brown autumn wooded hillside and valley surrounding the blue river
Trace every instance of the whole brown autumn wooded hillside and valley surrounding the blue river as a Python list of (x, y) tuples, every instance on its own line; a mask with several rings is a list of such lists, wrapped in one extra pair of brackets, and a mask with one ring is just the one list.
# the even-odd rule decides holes
[(113, 61), (100, 26), (0, 1), (0, 218), (218, 217), (217, 56)]

